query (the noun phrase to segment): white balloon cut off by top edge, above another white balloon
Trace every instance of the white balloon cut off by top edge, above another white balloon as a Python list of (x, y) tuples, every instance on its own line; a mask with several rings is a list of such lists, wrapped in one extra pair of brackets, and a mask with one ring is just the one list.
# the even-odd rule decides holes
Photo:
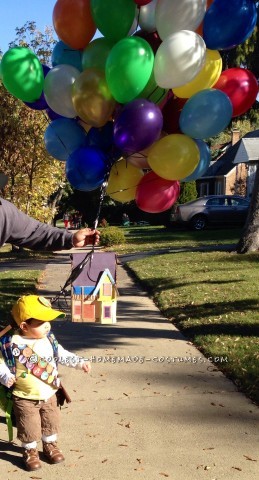
[(158, 0), (155, 17), (160, 38), (164, 40), (179, 30), (196, 30), (206, 5), (207, 0)]

